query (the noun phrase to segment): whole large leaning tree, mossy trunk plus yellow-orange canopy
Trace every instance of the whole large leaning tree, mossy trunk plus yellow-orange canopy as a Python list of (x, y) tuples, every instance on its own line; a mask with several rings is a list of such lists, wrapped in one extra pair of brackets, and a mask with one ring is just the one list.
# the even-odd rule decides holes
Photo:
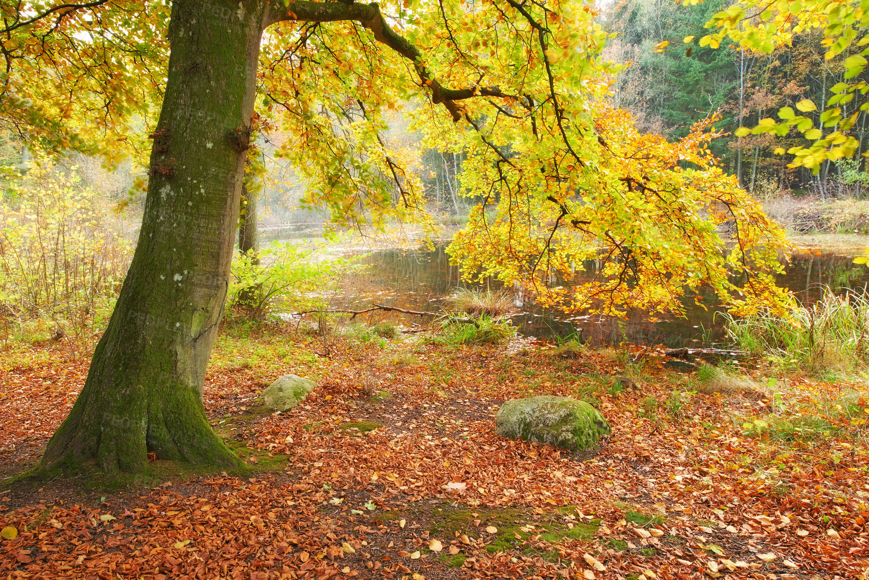
[[(285, 132), (304, 202), (335, 221), (428, 223), (412, 151), (382, 137), (408, 116), (425, 147), (467, 153), (461, 190), (482, 200), (453, 259), (569, 307), (679, 313), (701, 284), (737, 312), (788, 300), (773, 283), (781, 231), (716, 166), (715, 119), (668, 143), (607, 104), (620, 65), (601, 59), (590, 5), (22, 0), (0, 15), (0, 117), (109, 161), (150, 140), (135, 256), (43, 466), (239, 461), (202, 389), (261, 130)], [(592, 280), (552, 283), (589, 259)]]

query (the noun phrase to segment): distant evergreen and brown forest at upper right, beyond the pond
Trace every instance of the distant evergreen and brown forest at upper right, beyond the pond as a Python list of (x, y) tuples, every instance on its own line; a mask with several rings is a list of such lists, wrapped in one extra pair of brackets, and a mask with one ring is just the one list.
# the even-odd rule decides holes
[[(696, 6), (663, 0), (628, 0), (603, 10), (605, 27), (617, 34), (607, 45), (607, 56), (632, 65), (616, 77), (614, 104), (627, 109), (644, 130), (667, 137), (684, 137), (691, 124), (718, 111), (723, 129), (753, 127), (776, 117), (781, 107), (808, 98), (826, 103), (831, 87), (844, 80), (843, 65), (850, 53), (826, 60), (825, 35), (806, 30), (770, 54), (721, 46), (712, 49), (684, 44), (683, 38), (702, 33), (704, 23), (730, 3), (710, 0)], [(667, 46), (659, 47), (667, 42)], [(848, 106), (843, 105), (845, 114)], [(859, 152), (866, 150), (866, 125), (853, 131)], [(722, 137), (712, 149), (729, 173), (755, 197), (768, 200), (794, 196), (862, 197), (869, 174), (864, 158), (827, 161), (817, 175), (806, 168), (787, 167), (778, 148), (788, 149), (802, 139), (792, 131)]]

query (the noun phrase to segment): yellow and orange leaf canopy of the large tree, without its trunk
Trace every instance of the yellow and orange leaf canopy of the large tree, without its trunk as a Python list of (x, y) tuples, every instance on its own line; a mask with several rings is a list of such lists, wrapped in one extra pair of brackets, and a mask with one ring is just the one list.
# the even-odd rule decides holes
[[(141, 148), (133, 136), (155, 130), (169, 6), (3, 10), (4, 117), (46, 142)], [(468, 276), (608, 312), (678, 312), (702, 283), (741, 310), (786, 301), (769, 276), (781, 232), (716, 167), (714, 117), (668, 143), (607, 104), (621, 65), (601, 57), (608, 35), (593, 7), (302, 1), (270, 18), (254, 123), (285, 132), (280, 152), (306, 179), (305, 201), (337, 223), (425, 222), (412, 159), (381, 138), (385, 117), (404, 110), (423, 143), (467, 153), (462, 194), (484, 201), (451, 251)], [(599, 280), (574, 296), (553, 288), (589, 259), (606, 262)]]

